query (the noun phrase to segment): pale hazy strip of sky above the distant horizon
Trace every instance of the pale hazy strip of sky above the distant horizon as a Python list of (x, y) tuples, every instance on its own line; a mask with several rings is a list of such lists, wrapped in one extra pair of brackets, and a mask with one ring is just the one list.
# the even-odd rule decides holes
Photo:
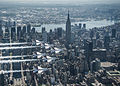
[(112, 4), (120, 3), (120, 0), (0, 0), (0, 2), (19, 2), (19, 3), (75, 3), (75, 4)]

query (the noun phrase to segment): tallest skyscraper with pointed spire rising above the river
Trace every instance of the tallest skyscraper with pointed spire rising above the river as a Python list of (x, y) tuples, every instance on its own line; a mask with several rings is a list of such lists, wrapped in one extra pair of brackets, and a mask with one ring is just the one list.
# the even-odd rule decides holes
[(70, 22), (70, 16), (68, 11), (68, 18), (66, 22), (66, 45), (69, 45), (71, 43), (71, 22)]

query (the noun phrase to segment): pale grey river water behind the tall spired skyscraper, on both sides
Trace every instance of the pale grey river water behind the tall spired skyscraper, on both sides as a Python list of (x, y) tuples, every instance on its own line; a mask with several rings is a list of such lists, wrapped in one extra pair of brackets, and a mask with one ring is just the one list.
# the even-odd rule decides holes
[[(91, 21), (81, 21), (81, 22), (72, 22), (72, 25), (75, 24), (86, 24), (87, 29), (91, 29), (94, 27), (103, 27), (114, 24), (114, 21), (108, 21), (108, 20), (91, 20)], [(55, 28), (62, 27), (65, 30), (66, 24), (43, 24), (41, 27), (35, 27), (37, 32), (41, 32), (42, 27), (46, 28), (46, 31), (49, 32), (50, 29), (54, 30)]]

